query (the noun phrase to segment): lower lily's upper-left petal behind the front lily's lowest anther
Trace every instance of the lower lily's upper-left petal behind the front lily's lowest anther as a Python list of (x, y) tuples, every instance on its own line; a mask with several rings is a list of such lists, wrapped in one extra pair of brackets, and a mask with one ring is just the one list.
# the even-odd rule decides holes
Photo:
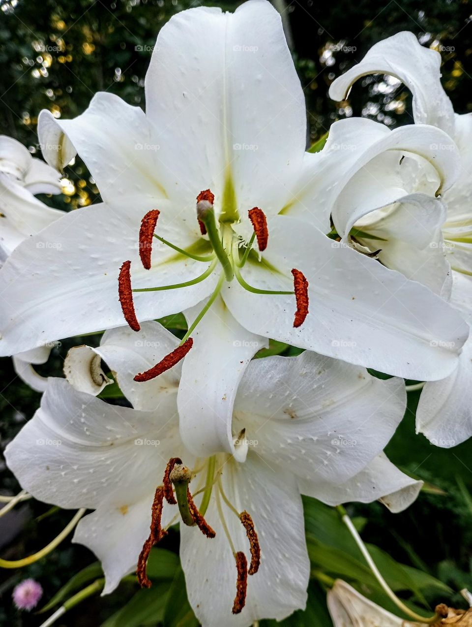
[[(162, 396), (177, 398), (182, 362), (163, 372), (156, 379), (137, 383), (134, 377), (160, 362), (177, 348), (179, 340), (153, 320), (144, 322), (135, 333), (129, 327), (106, 331), (100, 346), (95, 349), (116, 374), (121, 391), (135, 409), (153, 411)], [(177, 401), (176, 401), (177, 402)], [(177, 405), (176, 405), (177, 411)]]

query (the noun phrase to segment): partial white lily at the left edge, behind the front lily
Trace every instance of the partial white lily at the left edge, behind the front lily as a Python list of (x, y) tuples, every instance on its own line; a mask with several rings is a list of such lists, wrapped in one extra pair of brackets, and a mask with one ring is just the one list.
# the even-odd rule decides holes
[(64, 215), (35, 194), (59, 194), (59, 172), (31, 156), (13, 137), (0, 135), (0, 261), (20, 242)]

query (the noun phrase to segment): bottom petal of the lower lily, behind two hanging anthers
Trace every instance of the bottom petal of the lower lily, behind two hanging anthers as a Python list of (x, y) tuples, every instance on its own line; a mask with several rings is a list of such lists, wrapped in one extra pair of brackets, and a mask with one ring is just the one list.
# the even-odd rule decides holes
[[(205, 627), (247, 627), (255, 620), (281, 620), (307, 599), (310, 564), (305, 545), (302, 502), (294, 477), (280, 468), (273, 472), (249, 453), (245, 463), (223, 466), (223, 488), (229, 500), (247, 510), (260, 543), (259, 571), (247, 578), (247, 599), (240, 614), (231, 613), (236, 594), (236, 564), (215, 506), (215, 492), (205, 519), (216, 537), (204, 537), (196, 527), (181, 527), (180, 559), (187, 593)], [(236, 551), (250, 560), (249, 542), (235, 514), (222, 503)]]

